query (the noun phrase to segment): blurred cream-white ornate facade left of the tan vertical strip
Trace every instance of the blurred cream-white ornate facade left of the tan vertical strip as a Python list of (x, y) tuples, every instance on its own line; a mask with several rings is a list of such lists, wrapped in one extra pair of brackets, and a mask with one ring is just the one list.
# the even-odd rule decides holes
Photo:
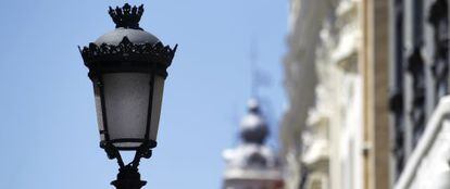
[[(285, 59), (290, 105), (282, 138), (287, 166), (297, 165), (302, 176), (291, 179), (297, 176), (289, 172), (286, 178), (289, 188), (362, 188), (360, 9), (359, 1), (352, 0), (291, 1), (290, 51)], [(304, 80), (312, 83), (303, 85)], [(303, 92), (312, 97), (297, 94)], [(291, 127), (299, 131), (289, 131)], [(298, 141), (286, 140), (289, 134), (295, 134)], [(300, 146), (295, 160), (290, 154), (293, 154), (291, 146), (296, 144), (289, 142)]]

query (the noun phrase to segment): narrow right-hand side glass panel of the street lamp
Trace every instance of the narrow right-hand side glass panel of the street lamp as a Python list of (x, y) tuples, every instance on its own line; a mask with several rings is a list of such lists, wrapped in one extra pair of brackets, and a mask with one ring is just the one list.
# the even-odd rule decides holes
[(162, 97), (164, 91), (164, 78), (161, 76), (154, 76), (152, 109), (151, 109), (151, 123), (150, 123), (150, 139), (157, 141), (158, 128), (160, 125), (160, 114)]

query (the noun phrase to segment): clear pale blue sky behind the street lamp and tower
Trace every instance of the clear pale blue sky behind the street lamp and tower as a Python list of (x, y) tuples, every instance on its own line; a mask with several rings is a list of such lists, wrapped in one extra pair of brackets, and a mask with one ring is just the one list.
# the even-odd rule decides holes
[[(118, 0), (23, 0), (0, 7), (0, 188), (112, 188), (117, 165), (98, 147), (93, 94), (77, 46), (112, 30)], [(221, 153), (237, 143), (250, 97), (250, 43), (272, 85), (260, 89), (276, 146), (287, 0), (161, 0), (140, 25), (179, 43), (164, 92), (159, 146), (140, 165), (147, 188), (220, 188)]]

